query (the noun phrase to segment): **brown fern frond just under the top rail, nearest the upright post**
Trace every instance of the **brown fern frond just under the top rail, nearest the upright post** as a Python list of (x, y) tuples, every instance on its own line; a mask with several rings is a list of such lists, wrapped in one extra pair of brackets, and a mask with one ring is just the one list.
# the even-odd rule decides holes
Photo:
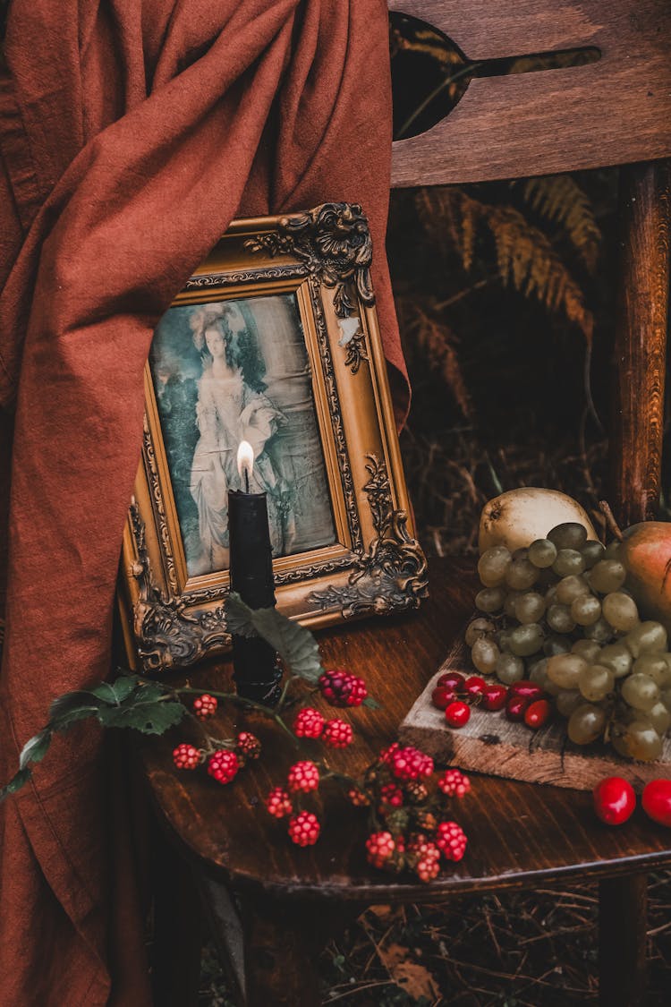
[(588, 270), (594, 273), (602, 233), (590, 197), (577, 182), (570, 175), (528, 178), (522, 185), (522, 195), (532, 209), (563, 228)]

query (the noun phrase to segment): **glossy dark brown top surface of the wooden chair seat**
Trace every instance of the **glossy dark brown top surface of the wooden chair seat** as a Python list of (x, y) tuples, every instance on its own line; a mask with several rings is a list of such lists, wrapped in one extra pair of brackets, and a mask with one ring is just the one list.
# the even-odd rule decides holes
[[(356, 774), (396, 737), (402, 717), (472, 609), (470, 584), (475, 585), (472, 564), (437, 561), (431, 567), (432, 596), (418, 612), (320, 635), (326, 666), (346, 666), (363, 675), (382, 703), (378, 711), (346, 712), (357, 741), (334, 753), (334, 767)], [(221, 664), (203, 667), (190, 680), (198, 688), (222, 688), (229, 675), (229, 666)], [(596, 819), (586, 793), (485, 775), (473, 777), (472, 793), (454, 809), (469, 837), (466, 857), (429, 888), (366, 864), (365, 810), (330, 792), (327, 796), (327, 785), (323, 835), (316, 846), (301, 850), (263, 806), (269, 789), (283, 782), (296, 752), (286, 736), (263, 721), (239, 716), (232, 723), (217, 715), (221, 733), (247, 726), (262, 738), (265, 751), (228, 786), (173, 766), (171, 750), (184, 731), (146, 741), (141, 749), (151, 794), (174, 838), (202, 866), (247, 894), (368, 904), (439, 901), (459, 892), (564, 875), (613, 876), (671, 862), (671, 830), (650, 822), (640, 810), (625, 826), (609, 829)]]

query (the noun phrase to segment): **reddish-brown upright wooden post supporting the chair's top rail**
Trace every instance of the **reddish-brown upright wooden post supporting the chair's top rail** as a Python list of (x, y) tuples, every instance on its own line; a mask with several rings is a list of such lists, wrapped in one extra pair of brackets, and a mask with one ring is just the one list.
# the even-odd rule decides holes
[(664, 426), (669, 162), (622, 169), (611, 496), (624, 528), (655, 517)]

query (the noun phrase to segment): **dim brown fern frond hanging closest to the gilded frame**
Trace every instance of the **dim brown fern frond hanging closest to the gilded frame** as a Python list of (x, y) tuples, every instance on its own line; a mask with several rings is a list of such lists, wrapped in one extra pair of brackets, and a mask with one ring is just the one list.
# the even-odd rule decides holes
[(411, 348), (418, 349), (422, 358), (429, 363), (432, 370), (441, 374), (462, 413), (467, 419), (470, 418), (471, 397), (456, 349), (458, 339), (450, 326), (432, 317), (409, 297), (398, 298), (396, 310), (401, 332), (406, 340), (409, 338), (413, 343)]

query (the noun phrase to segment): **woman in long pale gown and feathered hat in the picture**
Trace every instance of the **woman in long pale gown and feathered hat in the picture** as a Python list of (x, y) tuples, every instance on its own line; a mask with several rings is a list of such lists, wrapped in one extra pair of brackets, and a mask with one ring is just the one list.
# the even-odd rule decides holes
[(197, 572), (228, 566), (228, 489), (240, 488), (237, 448), (242, 440), (251, 444), (255, 453), (249, 491), (268, 494), (273, 553), (285, 555), (295, 535), (290, 487), (267, 450), (285, 417), (264, 395), (265, 367), (257, 340), (234, 304), (197, 309), (190, 324), (203, 364), (196, 403), (200, 437), (190, 483), (202, 550)]

